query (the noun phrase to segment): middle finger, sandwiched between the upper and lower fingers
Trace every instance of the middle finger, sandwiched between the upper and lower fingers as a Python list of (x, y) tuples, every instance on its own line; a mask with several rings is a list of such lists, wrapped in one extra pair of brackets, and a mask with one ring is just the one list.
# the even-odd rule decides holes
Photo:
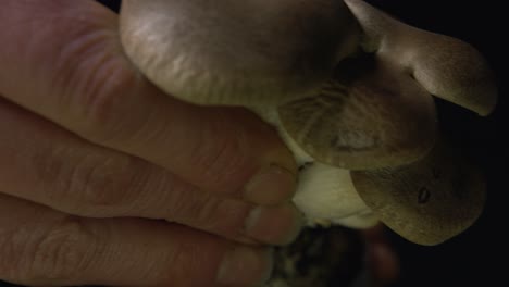
[(286, 244), (300, 228), (287, 203), (216, 197), (160, 166), (89, 144), (0, 98), (0, 188), (88, 217), (163, 219), (241, 241)]

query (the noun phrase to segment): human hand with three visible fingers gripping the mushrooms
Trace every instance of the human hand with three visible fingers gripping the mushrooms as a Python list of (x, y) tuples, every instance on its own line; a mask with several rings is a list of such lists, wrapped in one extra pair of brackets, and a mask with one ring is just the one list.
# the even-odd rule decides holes
[(95, 1), (5, 0), (0, 27), (1, 279), (269, 276), (269, 251), (252, 244), (286, 244), (300, 226), (288, 203), (296, 166), (272, 128), (160, 92)]

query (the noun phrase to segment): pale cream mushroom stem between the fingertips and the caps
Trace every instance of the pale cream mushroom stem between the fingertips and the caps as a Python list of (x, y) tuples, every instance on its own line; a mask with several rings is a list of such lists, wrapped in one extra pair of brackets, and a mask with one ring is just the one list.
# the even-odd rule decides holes
[(294, 203), (305, 214), (307, 225), (338, 224), (352, 228), (370, 227), (378, 221), (360, 198), (350, 171), (316, 162), (282, 127), (276, 109), (252, 107), (263, 121), (277, 128), (299, 166), (299, 185)]

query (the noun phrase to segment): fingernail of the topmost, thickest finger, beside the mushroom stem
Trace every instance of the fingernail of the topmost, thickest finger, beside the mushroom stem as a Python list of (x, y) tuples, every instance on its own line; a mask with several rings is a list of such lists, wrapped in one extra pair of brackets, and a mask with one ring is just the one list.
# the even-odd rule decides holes
[(296, 186), (296, 176), (291, 172), (272, 164), (251, 178), (244, 196), (256, 204), (272, 205), (290, 199)]

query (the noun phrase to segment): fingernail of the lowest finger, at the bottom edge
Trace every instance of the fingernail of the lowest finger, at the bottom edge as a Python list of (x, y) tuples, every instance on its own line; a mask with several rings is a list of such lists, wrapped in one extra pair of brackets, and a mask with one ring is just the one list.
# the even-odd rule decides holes
[(224, 255), (218, 271), (218, 283), (228, 286), (259, 286), (272, 273), (272, 249), (238, 246)]

